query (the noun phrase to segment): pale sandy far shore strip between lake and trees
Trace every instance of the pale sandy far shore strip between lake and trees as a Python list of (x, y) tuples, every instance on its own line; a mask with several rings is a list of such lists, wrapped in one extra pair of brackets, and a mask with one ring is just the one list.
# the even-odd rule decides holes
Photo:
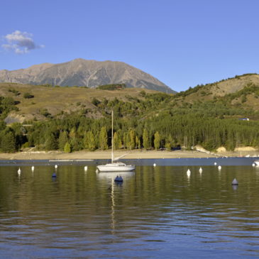
[[(160, 159), (160, 158), (220, 158), (259, 156), (258, 151), (203, 153), (196, 150), (119, 150), (114, 151), (114, 158), (121, 159)], [(61, 151), (23, 151), (18, 153), (0, 153), (0, 160), (80, 160), (111, 159), (111, 150), (82, 150), (74, 153)]]

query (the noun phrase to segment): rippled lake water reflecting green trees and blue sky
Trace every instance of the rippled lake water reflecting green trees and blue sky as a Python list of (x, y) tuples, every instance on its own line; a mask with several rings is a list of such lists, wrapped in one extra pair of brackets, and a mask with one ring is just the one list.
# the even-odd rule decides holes
[(106, 161), (60, 162), (56, 178), (55, 163), (2, 161), (0, 258), (258, 257), (253, 160), (131, 160), (122, 184), (96, 172)]

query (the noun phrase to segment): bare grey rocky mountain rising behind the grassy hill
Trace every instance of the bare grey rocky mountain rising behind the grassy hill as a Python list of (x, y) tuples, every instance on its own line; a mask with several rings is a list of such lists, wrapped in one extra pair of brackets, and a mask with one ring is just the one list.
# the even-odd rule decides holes
[(97, 87), (103, 84), (126, 84), (129, 88), (176, 92), (148, 73), (124, 62), (75, 59), (70, 62), (33, 65), (21, 70), (0, 70), (0, 82)]

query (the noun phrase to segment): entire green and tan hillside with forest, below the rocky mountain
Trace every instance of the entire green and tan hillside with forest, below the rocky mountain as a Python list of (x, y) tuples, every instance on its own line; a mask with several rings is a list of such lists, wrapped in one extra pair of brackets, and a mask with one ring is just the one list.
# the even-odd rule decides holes
[(211, 92), (224, 81), (175, 95), (116, 85), (104, 90), (2, 83), (0, 150), (105, 150), (111, 145), (111, 110), (115, 149), (258, 149), (259, 86), (249, 77), (225, 80), (242, 84), (224, 95)]

